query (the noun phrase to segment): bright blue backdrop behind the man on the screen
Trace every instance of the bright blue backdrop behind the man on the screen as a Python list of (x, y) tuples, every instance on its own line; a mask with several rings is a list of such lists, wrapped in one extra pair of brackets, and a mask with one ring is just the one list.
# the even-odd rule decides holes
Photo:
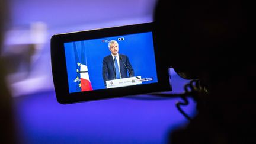
[[(123, 38), (124, 40), (120, 40)], [(68, 71), (69, 92), (79, 92), (79, 82), (75, 82), (78, 73), (78, 61), (82, 60), (88, 66), (89, 79), (94, 90), (104, 89), (102, 76), (103, 57), (110, 55), (108, 41), (119, 43), (119, 53), (127, 55), (135, 71), (135, 76), (153, 78), (153, 81), (142, 82), (149, 84), (157, 81), (155, 55), (152, 33), (129, 34), (102, 39), (75, 41), (65, 43), (66, 65)], [(77, 55), (76, 55), (77, 52)], [(84, 53), (84, 54), (82, 54)], [(80, 62), (81, 63), (81, 62)]]

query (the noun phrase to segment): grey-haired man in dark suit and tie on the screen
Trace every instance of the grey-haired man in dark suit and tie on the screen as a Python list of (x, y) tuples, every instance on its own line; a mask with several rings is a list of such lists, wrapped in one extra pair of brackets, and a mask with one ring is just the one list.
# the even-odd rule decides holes
[(127, 72), (129, 77), (134, 76), (132, 65), (126, 55), (119, 53), (119, 44), (116, 40), (111, 40), (108, 43), (108, 49), (111, 54), (103, 59), (104, 84), (106, 85), (106, 81), (111, 79), (127, 78)]

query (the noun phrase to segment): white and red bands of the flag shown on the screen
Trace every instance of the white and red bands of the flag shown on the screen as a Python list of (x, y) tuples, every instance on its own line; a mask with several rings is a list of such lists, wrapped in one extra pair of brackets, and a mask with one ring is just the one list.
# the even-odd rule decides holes
[(92, 91), (87, 65), (80, 65), (81, 91)]

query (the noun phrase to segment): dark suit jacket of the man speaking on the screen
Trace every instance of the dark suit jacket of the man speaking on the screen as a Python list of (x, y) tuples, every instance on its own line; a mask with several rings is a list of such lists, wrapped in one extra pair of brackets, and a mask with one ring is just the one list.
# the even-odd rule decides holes
[[(129, 73), (129, 77), (134, 76), (132, 65), (130, 64), (130, 61), (126, 55), (122, 55), (119, 53), (119, 65), (120, 65), (121, 78), (127, 78), (128, 77), (127, 72)], [(127, 71), (127, 69), (129, 71)], [(103, 59), (102, 74), (103, 74), (103, 80), (105, 85), (106, 85), (105, 81), (116, 79), (116, 76), (114, 73), (114, 60), (111, 54), (104, 57)]]

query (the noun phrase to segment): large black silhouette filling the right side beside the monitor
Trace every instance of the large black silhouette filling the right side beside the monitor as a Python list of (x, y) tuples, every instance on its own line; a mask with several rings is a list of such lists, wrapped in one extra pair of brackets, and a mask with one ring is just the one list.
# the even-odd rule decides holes
[[(255, 143), (255, 72), (249, 4), (242, 0), (159, 0), (156, 41), (162, 57), (207, 94), (198, 114), (170, 143)], [(171, 53), (169, 52), (171, 49)]]

